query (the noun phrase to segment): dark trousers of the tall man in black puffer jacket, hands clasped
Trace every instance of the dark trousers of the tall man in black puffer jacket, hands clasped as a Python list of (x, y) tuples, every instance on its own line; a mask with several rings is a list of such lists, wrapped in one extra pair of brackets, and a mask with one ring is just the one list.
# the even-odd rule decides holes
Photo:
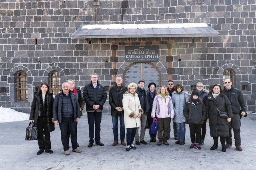
[(90, 143), (94, 143), (94, 123), (95, 123), (95, 142), (100, 141), (100, 123), (101, 123), (102, 112), (94, 111), (87, 112), (88, 124), (89, 124), (89, 137)]

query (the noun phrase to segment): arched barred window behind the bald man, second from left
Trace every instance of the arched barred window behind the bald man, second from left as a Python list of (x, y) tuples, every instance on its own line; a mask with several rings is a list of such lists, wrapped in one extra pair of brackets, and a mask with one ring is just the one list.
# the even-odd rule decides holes
[(61, 90), (60, 73), (58, 71), (52, 71), (49, 79), (50, 92), (55, 96)]

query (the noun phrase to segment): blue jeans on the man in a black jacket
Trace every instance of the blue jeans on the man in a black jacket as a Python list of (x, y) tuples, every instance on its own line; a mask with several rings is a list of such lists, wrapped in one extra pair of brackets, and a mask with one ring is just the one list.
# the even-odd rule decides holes
[(124, 127), (124, 115), (112, 116), (114, 141), (118, 141), (118, 117), (120, 121), (120, 141), (124, 141), (125, 127)]

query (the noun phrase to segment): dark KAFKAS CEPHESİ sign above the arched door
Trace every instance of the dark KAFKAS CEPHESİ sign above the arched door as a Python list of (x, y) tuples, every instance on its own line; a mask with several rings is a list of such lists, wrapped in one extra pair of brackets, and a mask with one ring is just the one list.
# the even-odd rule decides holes
[(126, 62), (158, 62), (158, 45), (129, 45), (125, 47)]

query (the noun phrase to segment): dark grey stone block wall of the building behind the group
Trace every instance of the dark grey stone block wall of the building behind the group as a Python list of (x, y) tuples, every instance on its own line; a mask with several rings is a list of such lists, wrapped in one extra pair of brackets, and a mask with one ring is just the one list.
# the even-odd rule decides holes
[[(202, 22), (220, 35), (70, 37), (88, 24)], [(83, 88), (93, 72), (109, 89), (117, 74), (125, 78), (134, 65), (125, 62), (126, 45), (158, 45), (159, 61), (147, 64), (159, 73), (160, 84), (172, 79), (190, 91), (202, 82), (208, 89), (222, 84), (227, 74), (243, 90), (247, 110), (256, 111), (255, 0), (0, 0), (0, 28), (2, 107), (28, 113), (41, 82), (52, 83), (57, 90), (54, 83), (74, 79)], [(110, 112), (108, 101), (105, 106), (104, 112)]]

